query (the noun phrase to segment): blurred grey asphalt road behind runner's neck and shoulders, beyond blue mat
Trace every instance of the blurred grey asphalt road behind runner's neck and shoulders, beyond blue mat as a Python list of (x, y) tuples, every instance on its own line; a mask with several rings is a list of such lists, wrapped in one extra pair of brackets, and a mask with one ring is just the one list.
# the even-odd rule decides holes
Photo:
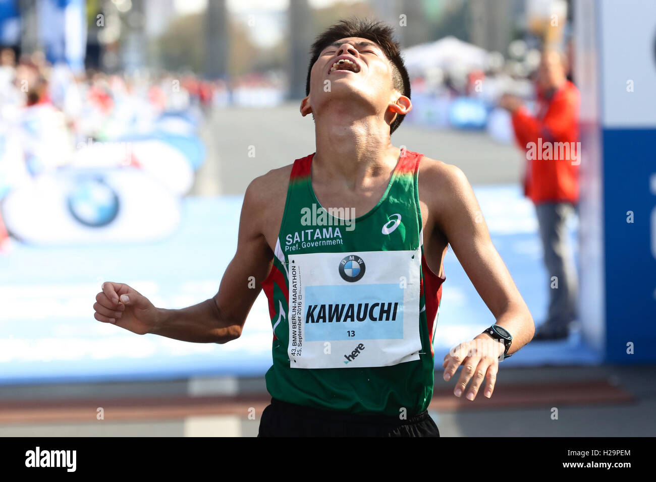
[[(207, 161), (193, 195), (241, 194), (251, 179), (315, 150), (314, 123), (298, 105), (215, 110), (203, 126)], [(522, 155), (474, 131), (436, 131), (403, 123), (392, 135), (396, 146), (455, 164), (471, 184), (518, 182)]]

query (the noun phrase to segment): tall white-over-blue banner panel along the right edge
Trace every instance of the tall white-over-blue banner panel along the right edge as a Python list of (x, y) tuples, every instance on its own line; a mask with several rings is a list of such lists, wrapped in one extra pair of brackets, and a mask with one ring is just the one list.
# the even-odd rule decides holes
[(579, 0), (581, 318), (611, 363), (656, 361), (656, 3)]

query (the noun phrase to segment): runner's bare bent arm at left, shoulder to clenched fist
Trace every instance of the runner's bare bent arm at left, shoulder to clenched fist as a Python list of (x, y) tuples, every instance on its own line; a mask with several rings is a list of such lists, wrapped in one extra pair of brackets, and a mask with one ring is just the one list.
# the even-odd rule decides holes
[(94, 318), (137, 334), (159, 334), (186, 342), (226, 343), (239, 338), (273, 262), (262, 232), (272, 204), (266, 177), (256, 178), (246, 190), (237, 252), (213, 298), (188, 308), (167, 310), (155, 308), (148, 298), (124, 283), (107, 281), (96, 295)]

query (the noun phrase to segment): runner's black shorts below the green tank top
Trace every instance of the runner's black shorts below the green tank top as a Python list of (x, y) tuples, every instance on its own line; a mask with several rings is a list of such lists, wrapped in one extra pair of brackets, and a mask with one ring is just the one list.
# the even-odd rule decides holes
[(440, 437), (427, 411), (400, 420), (303, 407), (271, 399), (262, 412), (258, 437)]

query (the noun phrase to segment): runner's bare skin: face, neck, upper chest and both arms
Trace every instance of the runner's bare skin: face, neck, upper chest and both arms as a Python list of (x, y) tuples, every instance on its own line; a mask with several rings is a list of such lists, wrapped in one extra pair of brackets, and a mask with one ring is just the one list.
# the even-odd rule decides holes
[[(409, 112), (412, 104), (394, 89), (392, 64), (377, 45), (358, 37), (337, 44), (324, 49), (312, 67), (310, 95), (302, 100), (300, 111), (314, 115), (317, 149), (312, 187), (319, 203), (326, 208), (354, 208), (357, 217), (375, 207), (390, 182), (402, 154), (390, 142), (390, 123), (397, 114)], [(359, 71), (330, 72), (342, 56), (356, 62)], [(508, 353), (514, 353), (533, 338), (533, 319), (491, 242), (469, 182), (453, 165), (423, 157), (419, 166), (428, 266), (441, 275), (451, 245), (495, 323), (512, 334)], [(96, 296), (94, 317), (138, 334), (189, 342), (225, 343), (238, 338), (272, 267), (291, 167), (274, 169), (249, 184), (237, 252), (213, 298), (181, 310), (165, 310), (155, 308), (128, 285), (108, 281)], [(255, 277), (256, 289), (249, 288), (251, 277)], [(486, 327), (491, 324), (485, 321)], [(455, 395), (460, 397), (471, 382), (468, 399), (473, 400), (485, 380), (484, 395), (490, 397), (499, 368), (497, 358), (503, 351), (501, 342), (480, 334), (445, 355), (444, 379), (449, 380), (462, 365)]]

